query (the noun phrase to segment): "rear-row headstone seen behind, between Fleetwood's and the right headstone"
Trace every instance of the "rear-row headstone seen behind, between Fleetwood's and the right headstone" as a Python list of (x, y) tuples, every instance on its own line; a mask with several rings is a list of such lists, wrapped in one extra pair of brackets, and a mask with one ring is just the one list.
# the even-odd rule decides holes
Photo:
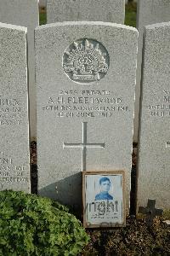
[(133, 141), (138, 141), (139, 131), (139, 96), (140, 96), (140, 80), (141, 80), (141, 64), (142, 64), (142, 48), (143, 48), (143, 32), (144, 26), (158, 22), (170, 21), (170, 0), (140, 0), (138, 1), (137, 27), (139, 30), (139, 47), (138, 47), (138, 68), (137, 68), (137, 84), (135, 92), (134, 105), (134, 137)]

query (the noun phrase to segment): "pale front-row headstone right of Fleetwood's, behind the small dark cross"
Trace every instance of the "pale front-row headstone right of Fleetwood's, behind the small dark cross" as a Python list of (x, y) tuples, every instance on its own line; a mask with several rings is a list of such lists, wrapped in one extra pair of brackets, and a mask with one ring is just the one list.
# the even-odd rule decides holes
[(146, 26), (139, 127), (138, 205), (169, 208), (170, 22)]

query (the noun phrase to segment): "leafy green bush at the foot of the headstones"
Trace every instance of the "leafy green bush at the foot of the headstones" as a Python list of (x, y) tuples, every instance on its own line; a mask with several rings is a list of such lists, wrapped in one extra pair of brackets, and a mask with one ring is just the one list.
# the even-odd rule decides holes
[(80, 221), (58, 202), (0, 192), (0, 255), (77, 255), (88, 239)]

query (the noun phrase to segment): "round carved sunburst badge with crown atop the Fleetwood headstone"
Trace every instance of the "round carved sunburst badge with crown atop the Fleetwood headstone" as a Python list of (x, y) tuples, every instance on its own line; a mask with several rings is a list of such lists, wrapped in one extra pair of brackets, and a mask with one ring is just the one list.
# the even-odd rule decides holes
[(105, 77), (109, 55), (105, 47), (93, 39), (80, 39), (71, 44), (63, 55), (66, 75), (78, 83), (89, 83)]

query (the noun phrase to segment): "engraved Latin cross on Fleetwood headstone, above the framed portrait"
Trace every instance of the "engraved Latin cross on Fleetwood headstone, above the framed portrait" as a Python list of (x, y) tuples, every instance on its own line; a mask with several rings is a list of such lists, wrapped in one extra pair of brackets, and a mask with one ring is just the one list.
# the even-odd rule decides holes
[(87, 142), (88, 122), (82, 122), (82, 143), (63, 143), (63, 148), (82, 148), (82, 171), (86, 171), (86, 152), (87, 148), (105, 148), (105, 143)]

